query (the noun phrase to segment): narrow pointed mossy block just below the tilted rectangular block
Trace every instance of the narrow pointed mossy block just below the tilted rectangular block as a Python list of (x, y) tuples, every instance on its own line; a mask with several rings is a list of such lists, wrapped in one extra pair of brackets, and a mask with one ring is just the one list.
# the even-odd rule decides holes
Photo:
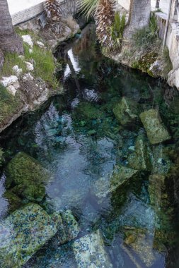
[(137, 137), (134, 153), (129, 154), (128, 162), (132, 169), (151, 170), (150, 150), (143, 135)]

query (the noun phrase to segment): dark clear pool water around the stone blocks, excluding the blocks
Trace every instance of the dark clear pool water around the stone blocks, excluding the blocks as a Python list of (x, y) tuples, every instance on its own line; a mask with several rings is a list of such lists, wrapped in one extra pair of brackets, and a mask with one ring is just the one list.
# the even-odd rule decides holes
[[(52, 173), (40, 205), (48, 213), (71, 209), (81, 227), (79, 237), (100, 229), (113, 267), (178, 267), (174, 239), (178, 238), (178, 176), (171, 171), (179, 162), (178, 92), (161, 80), (102, 56), (93, 25), (59, 47), (56, 56), (63, 62), (58, 77), (64, 95), (52, 97), (1, 134), (5, 152), (1, 221), (9, 213), (4, 197), (6, 165), (16, 153), (25, 152)], [(140, 121), (120, 124), (113, 108), (122, 97), (132, 99), (141, 111), (158, 109), (171, 140), (151, 145)], [(152, 167), (140, 170), (139, 166), (138, 180), (129, 183), (124, 193), (115, 201), (106, 197), (99, 202), (94, 194), (96, 181), (108, 181), (116, 165), (129, 166), (139, 136), (149, 147)], [(151, 174), (168, 176), (164, 192), (163, 186), (154, 192), (161, 205), (151, 203)], [(57, 239), (50, 240), (25, 267), (76, 267), (73, 242), (59, 246)]]

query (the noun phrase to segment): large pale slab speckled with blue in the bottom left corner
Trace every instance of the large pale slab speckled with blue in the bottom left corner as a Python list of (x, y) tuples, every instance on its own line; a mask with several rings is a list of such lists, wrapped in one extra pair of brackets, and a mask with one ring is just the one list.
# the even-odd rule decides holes
[(0, 267), (22, 267), (55, 233), (56, 224), (39, 205), (16, 210), (0, 223)]

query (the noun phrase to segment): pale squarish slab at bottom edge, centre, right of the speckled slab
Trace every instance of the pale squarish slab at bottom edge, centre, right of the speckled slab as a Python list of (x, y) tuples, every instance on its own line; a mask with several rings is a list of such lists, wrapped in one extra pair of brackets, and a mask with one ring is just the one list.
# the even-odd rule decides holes
[(73, 249), (79, 268), (112, 268), (99, 230), (74, 241)]

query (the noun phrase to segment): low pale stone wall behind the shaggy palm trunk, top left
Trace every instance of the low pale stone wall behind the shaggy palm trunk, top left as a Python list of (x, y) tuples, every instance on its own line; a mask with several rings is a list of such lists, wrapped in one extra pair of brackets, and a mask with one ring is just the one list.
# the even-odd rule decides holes
[[(17, 13), (13, 13), (11, 15), (13, 25), (24, 23), (25, 21), (30, 20), (31, 18), (34, 18), (38, 14), (42, 13), (42, 11), (44, 11), (44, 3), (45, 1), (42, 1), (42, 3), (39, 3), (35, 6), (31, 6), (30, 8), (26, 8)], [(59, 0), (59, 3), (62, 6), (64, 16), (67, 16), (67, 14), (72, 15), (78, 11), (78, 6), (76, 4), (77, 0)]]

